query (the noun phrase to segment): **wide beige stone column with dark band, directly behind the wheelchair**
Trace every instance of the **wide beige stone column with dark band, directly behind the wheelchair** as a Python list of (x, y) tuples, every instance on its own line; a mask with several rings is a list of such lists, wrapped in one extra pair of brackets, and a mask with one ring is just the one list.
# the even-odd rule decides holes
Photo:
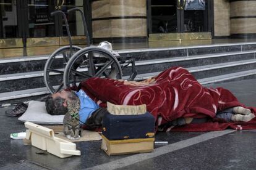
[(147, 37), (147, 1), (93, 1), (92, 29), (93, 39)]

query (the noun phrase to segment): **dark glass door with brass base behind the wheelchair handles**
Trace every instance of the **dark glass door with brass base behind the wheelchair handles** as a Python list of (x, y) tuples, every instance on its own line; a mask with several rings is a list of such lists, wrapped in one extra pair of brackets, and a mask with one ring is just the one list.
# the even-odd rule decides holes
[(51, 16), (51, 12), (62, 10), (67, 16), (72, 44), (86, 44), (82, 16), (79, 12), (67, 13), (74, 7), (84, 11), (83, 0), (27, 0), (27, 47), (62, 46), (69, 44), (64, 18)]

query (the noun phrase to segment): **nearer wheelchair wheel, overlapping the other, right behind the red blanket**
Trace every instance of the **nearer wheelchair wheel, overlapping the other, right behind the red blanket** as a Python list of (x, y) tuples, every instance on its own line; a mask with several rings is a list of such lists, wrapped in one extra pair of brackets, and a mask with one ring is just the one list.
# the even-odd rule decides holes
[(117, 58), (102, 47), (86, 47), (71, 57), (64, 71), (64, 87), (77, 86), (92, 77), (122, 79)]

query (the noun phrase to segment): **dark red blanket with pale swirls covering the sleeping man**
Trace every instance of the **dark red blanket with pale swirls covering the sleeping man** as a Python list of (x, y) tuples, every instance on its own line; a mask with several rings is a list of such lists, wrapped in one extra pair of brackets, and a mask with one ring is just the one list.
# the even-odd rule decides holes
[[(203, 87), (189, 71), (181, 67), (169, 68), (160, 75), (139, 83), (90, 78), (80, 86), (98, 103), (145, 103), (147, 110), (158, 120), (158, 126), (181, 117), (214, 118), (217, 111), (243, 106), (227, 89)], [(252, 111), (255, 113), (256, 109), (252, 108)]]

